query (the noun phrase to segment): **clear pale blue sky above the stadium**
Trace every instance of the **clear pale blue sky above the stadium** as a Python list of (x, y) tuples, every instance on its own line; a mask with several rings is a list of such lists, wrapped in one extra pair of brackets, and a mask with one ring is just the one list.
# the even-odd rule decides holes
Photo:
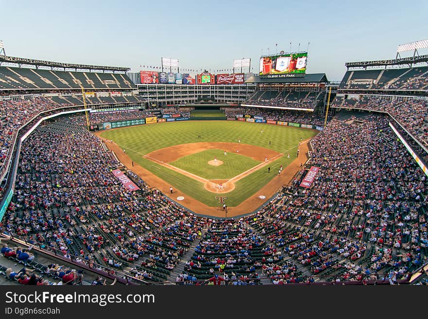
[(161, 57), (212, 71), (250, 58), (257, 72), (262, 53), (300, 43), (307, 73), (339, 81), (345, 62), (392, 59), (397, 45), (427, 39), (427, 16), (427, 0), (0, 0), (0, 40), (10, 56), (131, 72)]

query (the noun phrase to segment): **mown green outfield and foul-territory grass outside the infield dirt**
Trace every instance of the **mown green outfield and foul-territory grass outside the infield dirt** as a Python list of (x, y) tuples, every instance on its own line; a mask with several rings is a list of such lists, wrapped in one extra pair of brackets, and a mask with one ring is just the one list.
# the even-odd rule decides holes
[[(263, 130), (263, 133), (261, 133)], [(197, 138), (200, 134), (202, 138)], [(246, 123), (241, 121), (183, 121), (172, 123), (157, 123), (130, 126), (108, 130), (101, 135), (112, 139), (126, 150), (128, 156), (143, 168), (159, 176), (165, 182), (178, 188), (184, 194), (192, 196), (209, 206), (219, 206), (215, 194), (207, 191), (204, 185), (193, 178), (186, 177), (169, 168), (154, 164), (143, 155), (172, 145), (196, 142), (238, 142), (264, 147), (270, 150), (284, 152), (285, 157), (271, 163), (271, 167), (287, 165), (296, 157), (297, 146), (303, 140), (315, 136), (316, 131), (290, 126)], [(269, 145), (271, 141), (271, 145)], [(287, 159), (286, 154), (291, 158)], [(228, 155), (229, 156), (229, 153)], [(218, 157), (217, 157), (218, 158)], [(228, 206), (233, 207), (256, 193), (261, 187), (277, 176), (275, 168), (267, 173), (267, 168), (261, 168), (239, 180), (235, 189), (227, 193)]]

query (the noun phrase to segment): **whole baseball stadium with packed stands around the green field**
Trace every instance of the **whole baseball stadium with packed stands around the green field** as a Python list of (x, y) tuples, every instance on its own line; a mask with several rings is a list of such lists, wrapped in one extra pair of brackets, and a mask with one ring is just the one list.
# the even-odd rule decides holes
[(427, 285), (412, 40), (353, 49), (338, 81), (309, 43), (131, 68), (0, 41), (0, 284)]

